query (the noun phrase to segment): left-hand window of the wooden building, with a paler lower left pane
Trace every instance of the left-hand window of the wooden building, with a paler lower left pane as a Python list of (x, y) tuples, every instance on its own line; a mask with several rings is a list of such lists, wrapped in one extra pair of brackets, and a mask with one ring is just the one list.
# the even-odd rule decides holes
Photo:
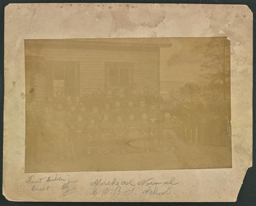
[(54, 96), (57, 91), (61, 91), (63, 96), (79, 95), (79, 68), (76, 62), (54, 62)]

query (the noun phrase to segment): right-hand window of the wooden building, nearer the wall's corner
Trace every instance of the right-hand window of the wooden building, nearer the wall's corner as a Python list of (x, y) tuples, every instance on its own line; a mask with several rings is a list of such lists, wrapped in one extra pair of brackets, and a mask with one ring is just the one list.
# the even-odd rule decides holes
[(106, 66), (106, 84), (108, 88), (129, 88), (132, 84), (133, 67), (123, 64)]

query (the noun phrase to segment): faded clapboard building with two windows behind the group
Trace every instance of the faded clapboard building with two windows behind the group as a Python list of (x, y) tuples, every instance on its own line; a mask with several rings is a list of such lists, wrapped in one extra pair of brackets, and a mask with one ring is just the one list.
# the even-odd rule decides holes
[(35, 101), (91, 91), (159, 89), (160, 48), (168, 38), (25, 40), (26, 94)]

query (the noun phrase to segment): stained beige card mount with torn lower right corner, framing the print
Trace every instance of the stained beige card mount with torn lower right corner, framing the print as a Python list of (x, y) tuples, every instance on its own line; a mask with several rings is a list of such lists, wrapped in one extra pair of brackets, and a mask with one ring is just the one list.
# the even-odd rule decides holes
[[(24, 173), (24, 39), (218, 36), (227, 36), (231, 41), (232, 168)], [(10, 4), (6, 7), (3, 193), (7, 199), (235, 201), (251, 165), (252, 13), (247, 6)]]

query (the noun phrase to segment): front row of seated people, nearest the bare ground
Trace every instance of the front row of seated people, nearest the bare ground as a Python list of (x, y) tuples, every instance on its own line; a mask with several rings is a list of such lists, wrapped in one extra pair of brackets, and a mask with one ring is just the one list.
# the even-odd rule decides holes
[[(75, 124), (67, 128), (67, 138), (74, 157), (90, 155), (93, 151), (99, 154), (149, 152), (151, 149), (163, 151), (175, 149), (172, 142), (175, 135), (173, 127), (173, 120), (168, 112), (165, 113), (163, 122), (150, 121), (146, 113), (143, 113), (139, 120), (135, 118), (134, 113), (130, 113), (126, 122), (123, 121), (122, 116), (117, 116), (115, 123), (110, 121), (107, 114), (103, 115), (100, 122), (91, 118), (88, 123), (85, 123), (83, 117), (78, 115)], [(54, 127), (52, 129), (54, 130)], [(62, 146), (63, 142), (67, 142), (61, 139), (58, 141), (62, 142)], [(54, 145), (61, 144), (55, 143)], [(56, 150), (56, 147), (54, 149)], [(57, 150), (60, 151), (60, 149)]]

